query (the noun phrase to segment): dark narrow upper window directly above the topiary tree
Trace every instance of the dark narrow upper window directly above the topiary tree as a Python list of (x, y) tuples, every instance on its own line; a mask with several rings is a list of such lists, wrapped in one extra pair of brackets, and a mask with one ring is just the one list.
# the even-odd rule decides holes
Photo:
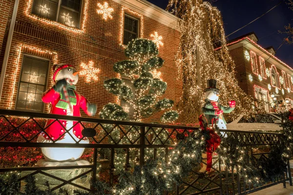
[(127, 45), (132, 39), (138, 38), (138, 25), (139, 22), (137, 19), (125, 15), (124, 17), (124, 36), (123, 44)]

